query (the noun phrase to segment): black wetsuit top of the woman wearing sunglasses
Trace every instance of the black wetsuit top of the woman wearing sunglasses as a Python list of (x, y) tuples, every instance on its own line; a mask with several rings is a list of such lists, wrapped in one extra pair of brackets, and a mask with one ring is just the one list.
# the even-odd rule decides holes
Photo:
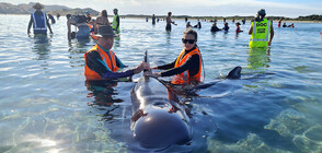
[[(194, 47), (193, 49), (191, 50), (185, 50), (185, 54), (188, 54), (189, 51), (194, 50), (196, 47)], [(182, 57), (184, 57), (182, 56)], [(171, 62), (171, 63), (168, 63), (168, 64), (163, 64), (163, 66), (158, 66), (158, 69), (160, 70), (168, 70), (168, 71), (164, 71), (164, 72), (161, 72), (161, 76), (170, 76), (170, 75), (175, 75), (175, 74), (180, 74), (186, 70), (189, 71), (189, 76), (193, 76), (195, 74), (198, 73), (199, 71), (199, 60), (202, 58), (199, 57), (199, 55), (193, 55), (189, 59), (187, 59), (182, 66), (177, 67), (177, 68), (174, 68), (174, 64), (175, 64), (175, 61), (176, 59)]]

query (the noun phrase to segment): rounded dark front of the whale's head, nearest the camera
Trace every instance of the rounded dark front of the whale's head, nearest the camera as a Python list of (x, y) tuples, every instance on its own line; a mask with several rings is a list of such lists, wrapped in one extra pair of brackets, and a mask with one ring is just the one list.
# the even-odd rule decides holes
[(139, 118), (133, 129), (134, 137), (147, 149), (184, 144), (192, 139), (189, 125), (181, 113), (154, 109)]

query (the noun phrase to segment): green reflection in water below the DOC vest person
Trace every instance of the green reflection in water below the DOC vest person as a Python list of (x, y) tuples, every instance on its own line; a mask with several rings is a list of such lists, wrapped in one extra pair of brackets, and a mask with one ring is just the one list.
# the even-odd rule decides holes
[(269, 68), (269, 56), (271, 48), (250, 48), (248, 57), (248, 68), (254, 70), (260, 70), (261, 68)]

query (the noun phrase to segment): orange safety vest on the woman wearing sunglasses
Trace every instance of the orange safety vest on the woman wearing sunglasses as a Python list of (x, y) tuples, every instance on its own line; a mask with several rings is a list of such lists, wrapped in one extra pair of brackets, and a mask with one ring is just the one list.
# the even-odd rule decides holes
[(183, 63), (186, 62), (186, 60), (188, 60), (193, 55), (199, 55), (199, 71), (197, 74), (195, 75), (189, 75), (189, 71), (186, 70), (181, 74), (176, 74), (172, 82), (173, 84), (189, 84), (192, 82), (196, 82), (199, 83), (200, 79), (202, 79), (202, 55), (198, 48), (189, 51), (188, 54), (186, 54), (185, 56), (183, 56), (185, 54), (185, 49), (182, 49), (181, 54), (179, 55), (179, 57), (176, 58), (174, 68), (177, 68), (180, 66), (182, 66)]

